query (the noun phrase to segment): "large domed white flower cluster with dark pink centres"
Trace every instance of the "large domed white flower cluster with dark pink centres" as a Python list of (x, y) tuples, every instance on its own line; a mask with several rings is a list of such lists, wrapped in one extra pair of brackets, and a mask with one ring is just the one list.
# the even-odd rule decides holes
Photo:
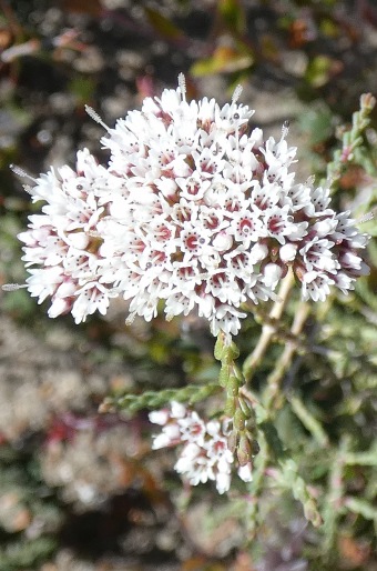
[(367, 273), (367, 237), (329, 208), (328, 189), (295, 182), (287, 128), (264, 140), (238, 94), (222, 108), (187, 102), (181, 81), (108, 128), (106, 167), (84, 150), (75, 170), (35, 180), (42, 213), (19, 238), (29, 291), (51, 297), (50, 317), (79, 323), (121, 295), (130, 321), (151, 320), (163, 300), (169, 319), (196, 310), (213, 334), (236, 334), (243, 304), (274, 299), (287, 271), (314, 301)]

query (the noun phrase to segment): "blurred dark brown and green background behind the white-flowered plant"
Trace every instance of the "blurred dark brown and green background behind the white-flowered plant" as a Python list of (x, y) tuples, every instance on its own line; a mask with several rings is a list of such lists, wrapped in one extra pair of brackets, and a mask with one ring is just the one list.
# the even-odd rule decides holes
[[(105, 161), (103, 129), (84, 106), (112, 127), (144, 97), (176, 87), (180, 72), (190, 98), (221, 104), (241, 83), (241, 101), (267, 134), (278, 137), (289, 120), (297, 180), (320, 178), (360, 94), (376, 94), (377, 4), (0, 0), (1, 283), (26, 279), (16, 237), (38, 209), (9, 166), (34, 177), (73, 164), (83, 147)], [(368, 154), (340, 179), (334, 200), (343, 208), (375, 203), (376, 126), (375, 113)], [(346, 435), (367, 451), (376, 434), (376, 250), (360, 290), (313, 317), (313, 342), (336, 347), (338, 357), (324, 351), (315, 365), (297, 358), (287, 381), (313, 404), (330, 450)], [(246, 549), (236, 501), (211, 485), (182, 488), (174, 452), (150, 451), (147, 411), (98, 412), (109, 393), (216, 379), (204, 323), (159, 318), (125, 328), (125, 314), (114, 303), (105, 318), (74, 327), (70, 315), (49, 320), (24, 290), (2, 293), (0, 571), (375, 571), (373, 462), (347, 469), (343, 493), (365, 503), (339, 508), (332, 541), (306, 524), (292, 499), (267, 491), (265, 523)], [(240, 340), (245, 354), (258, 327), (251, 319)], [(288, 417), (282, 427), (318, 494), (329, 493), (334, 454), (313, 448), (310, 464), (303, 460), (310, 435)]]

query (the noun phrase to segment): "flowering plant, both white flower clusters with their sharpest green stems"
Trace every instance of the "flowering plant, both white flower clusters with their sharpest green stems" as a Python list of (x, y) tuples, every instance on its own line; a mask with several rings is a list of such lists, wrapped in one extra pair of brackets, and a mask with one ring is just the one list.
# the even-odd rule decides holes
[[(151, 321), (161, 302), (169, 320), (191, 312), (207, 320), (217, 338), (218, 383), (110, 398), (103, 409), (161, 409), (150, 414), (162, 427), (153, 448), (181, 445), (175, 470), (192, 485), (214, 480), (224, 493), (236, 464), (257, 498), (267, 465), (275, 467), (271, 473), (318, 525), (315, 500), (278, 439), (273, 410), (308, 314), (305, 302), (323, 302), (334, 289), (347, 293), (368, 273), (368, 237), (349, 212), (332, 208), (329, 184), (295, 180), (288, 124), (278, 140), (264, 139), (261, 129), (249, 129), (254, 111), (238, 103), (240, 94), (237, 88), (222, 108), (214, 99), (188, 102), (181, 76), (176, 90), (146, 98), (113, 129), (89, 109), (106, 130), (101, 143), (109, 163), (78, 151), (75, 169), (51, 168), (27, 187), (43, 206), (19, 234), (30, 274), (24, 287), (40, 303), (51, 298), (50, 317), (71, 312), (77, 323), (105, 314), (116, 297), (130, 302), (129, 323), (135, 315)], [(360, 113), (371, 107), (369, 99)], [(303, 303), (282, 367), (261, 399), (247, 383), (278, 334), (294, 283)], [(241, 372), (233, 339), (249, 312), (263, 328)], [(192, 405), (218, 384), (224, 410), (203, 420)], [(251, 510), (252, 521), (256, 501)]]

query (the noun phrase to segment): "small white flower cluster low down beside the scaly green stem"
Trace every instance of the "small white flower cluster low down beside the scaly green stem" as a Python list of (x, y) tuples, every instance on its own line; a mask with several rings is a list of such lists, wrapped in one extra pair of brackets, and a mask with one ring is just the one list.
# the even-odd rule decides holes
[[(191, 485), (215, 481), (218, 493), (230, 489), (234, 455), (227, 444), (226, 429), (217, 420), (204, 422), (201, 417), (183, 404), (173, 401), (171, 410), (150, 413), (150, 421), (162, 425), (154, 437), (153, 449), (183, 444), (174, 467)], [(244, 482), (252, 480), (252, 464), (238, 467)]]

